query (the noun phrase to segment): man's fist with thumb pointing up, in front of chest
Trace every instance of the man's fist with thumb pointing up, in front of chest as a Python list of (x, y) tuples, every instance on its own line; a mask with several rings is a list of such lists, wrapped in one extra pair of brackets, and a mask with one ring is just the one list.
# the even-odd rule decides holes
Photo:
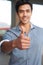
[(21, 28), (20, 36), (15, 40), (16, 48), (25, 50), (30, 47), (30, 38), (24, 35), (25, 28)]

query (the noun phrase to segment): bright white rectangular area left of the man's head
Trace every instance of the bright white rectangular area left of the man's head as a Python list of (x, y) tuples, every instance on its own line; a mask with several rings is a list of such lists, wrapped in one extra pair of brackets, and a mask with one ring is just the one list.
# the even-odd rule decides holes
[(0, 28), (11, 26), (11, 1), (0, 1)]

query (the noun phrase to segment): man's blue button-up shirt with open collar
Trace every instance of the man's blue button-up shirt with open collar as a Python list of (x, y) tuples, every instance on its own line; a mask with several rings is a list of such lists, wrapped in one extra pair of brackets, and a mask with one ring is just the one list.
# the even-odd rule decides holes
[[(16, 26), (8, 30), (3, 39), (14, 40), (19, 36), (21, 30), (19, 26)], [(30, 48), (26, 50), (20, 50), (14, 48), (11, 53), (9, 65), (41, 65), (41, 48), (43, 45), (43, 29), (32, 24), (30, 32)]]

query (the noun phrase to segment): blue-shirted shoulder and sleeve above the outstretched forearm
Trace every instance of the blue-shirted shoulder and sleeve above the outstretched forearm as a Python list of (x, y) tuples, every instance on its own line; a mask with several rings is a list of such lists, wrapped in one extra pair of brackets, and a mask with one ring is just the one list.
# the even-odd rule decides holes
[(13, 40), (13, 39), (17, 38), (17, 36), (18, 36), (17, 31), (18, 31), (17, 26), (7, 30), (6, 33), (3, 35), (3, 39)]

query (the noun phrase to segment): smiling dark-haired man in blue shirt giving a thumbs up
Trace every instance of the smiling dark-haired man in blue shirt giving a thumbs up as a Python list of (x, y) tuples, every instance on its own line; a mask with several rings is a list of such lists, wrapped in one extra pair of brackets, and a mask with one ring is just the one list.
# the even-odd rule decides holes
[(42, 29), (30, 22), (32, 4), (19, 0), (15, 5), (19, 24), (3, 36), (1, 49), (11, 53), (9, 65), (41, 65)]

